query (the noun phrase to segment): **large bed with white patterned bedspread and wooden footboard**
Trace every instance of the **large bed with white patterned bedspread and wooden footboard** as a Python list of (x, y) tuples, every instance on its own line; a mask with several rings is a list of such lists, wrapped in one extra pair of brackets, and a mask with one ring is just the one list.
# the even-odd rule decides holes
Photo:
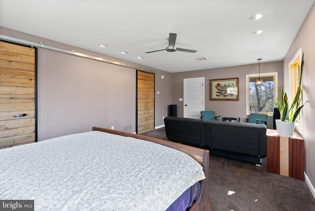
[(210, 211), (208, 162), (208, 150), (93, 127), (1, 149), (0, 200), (34, 200), (39, 211)]

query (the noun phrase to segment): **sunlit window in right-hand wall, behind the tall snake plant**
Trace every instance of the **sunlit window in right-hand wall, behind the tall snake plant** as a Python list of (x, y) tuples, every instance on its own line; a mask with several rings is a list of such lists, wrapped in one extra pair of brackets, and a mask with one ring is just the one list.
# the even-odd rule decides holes
[[(291, 61), (289, 62), (289, 92), (288, 92), (289, 99), (288, 100), (290, 104), (294, 100), (297, 88), (299, 86), (301, 61), (302, 61), (302, 49), (300, 48), (298, 52), (294, 55), (294, 57), (291, 59)], [(300, 133), (302, 133), (301, 113), (302, 113), (302, 110), (295, 120), (295, 129)]]

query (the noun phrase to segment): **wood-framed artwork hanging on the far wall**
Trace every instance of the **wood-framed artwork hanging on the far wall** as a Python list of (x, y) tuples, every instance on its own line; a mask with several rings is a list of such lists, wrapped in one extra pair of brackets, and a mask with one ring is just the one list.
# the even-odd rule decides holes
[(238, 101), (238, 78), (210, 80), (210, 100)]

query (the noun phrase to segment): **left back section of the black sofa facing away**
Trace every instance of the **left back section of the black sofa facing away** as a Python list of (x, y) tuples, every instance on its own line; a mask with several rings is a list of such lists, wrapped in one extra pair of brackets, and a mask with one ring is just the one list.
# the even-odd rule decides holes
[(166, 137), (170, 141), (193, 146), (206, 146), (205, 120), (167, 116), (164, 118)]

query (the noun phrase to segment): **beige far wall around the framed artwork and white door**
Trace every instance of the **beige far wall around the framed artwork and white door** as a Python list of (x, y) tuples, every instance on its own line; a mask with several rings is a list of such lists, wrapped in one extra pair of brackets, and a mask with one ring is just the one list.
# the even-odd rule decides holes
[[(263, 61), (263, 60), (262, 60)], [(278, 72), (278, 82), (283, 80), (283, 63), (268, 62), (260, 63), (260, 72)], [(258, 63), (209, 70), (195, 70), (188, 72), (173, 73), (173, 104), (177, 105), (177, 115), (184, 116), (183, 98), (184, 78), (205, 77), (205, 110), (214, 110), (221, 117), (247, 117), (246, 115), (246, 74), (257, 74)], [(210, 79), (239, 78), (239, 101), (210, 101), (209, 85)], [(271, 128), (272, 119), (268, 118), (268, 128)]]

